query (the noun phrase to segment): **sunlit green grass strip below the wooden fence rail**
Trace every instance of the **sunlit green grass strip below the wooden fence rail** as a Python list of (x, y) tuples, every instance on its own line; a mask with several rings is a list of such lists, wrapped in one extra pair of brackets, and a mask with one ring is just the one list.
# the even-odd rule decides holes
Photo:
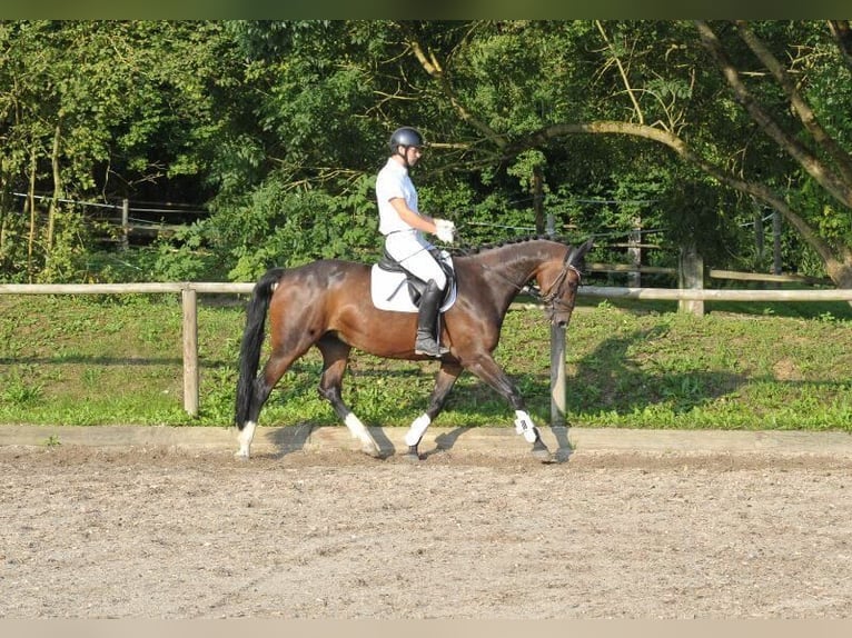
[[(566, 369), (571, 425), (852, 431), (852, 311), (845, 303), (590, 302), (575, 310)], [(182, 410), (176, 297), (0, 296), (0, 422), (229, 426), (241, 303), (201, 297), (200, 412)], [(538, 422), (549, 420), (549, 329), (512, 310), (497, 360)], [(316, 388), (321, 360), (299, 360), (261, 425), (338, 425)], [(407, 426), (428, 401), (435, 362), (355, 353), (344, 398), (365, 422)], [(436, 425), (511, 426), (491, 388), (463, 375)]]

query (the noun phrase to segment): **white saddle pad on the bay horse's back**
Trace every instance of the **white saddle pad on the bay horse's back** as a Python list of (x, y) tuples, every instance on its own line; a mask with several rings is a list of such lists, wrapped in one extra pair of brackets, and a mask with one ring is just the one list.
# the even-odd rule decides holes
[[(447, 277), (447, 287), (440, 302), (440, 311), (448, 310), (456, 300), (456, 271), (453, 258), (446, 250), (429, 249)], [(396, 259), (384, 251), (382, 259), (370, 270), (373, 303), (380, 310), (417, 312), (426, 281), (408, 272)]]

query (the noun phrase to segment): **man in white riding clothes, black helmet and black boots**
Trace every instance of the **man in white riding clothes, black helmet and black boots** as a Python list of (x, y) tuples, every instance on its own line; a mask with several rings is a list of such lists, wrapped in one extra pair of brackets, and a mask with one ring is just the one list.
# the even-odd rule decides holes
[(408, 177), (408, 170), (420, 159), (424, 146), (423, 136), (410, 127), (398, 128), (390, 136), (390, 157), (376, 178), (378, 229), (385, 236), (387, 253), (426, 282), (420, 296), (414, 351), (440, 357), (448, 352), (438, 343), (436, 331), (447, 277), (433, 256), (435, 248), (423, 233), (429, 232), (452, 243), (456, 227), (452, 221), (432, 218), (417, 208), (417, 190)]

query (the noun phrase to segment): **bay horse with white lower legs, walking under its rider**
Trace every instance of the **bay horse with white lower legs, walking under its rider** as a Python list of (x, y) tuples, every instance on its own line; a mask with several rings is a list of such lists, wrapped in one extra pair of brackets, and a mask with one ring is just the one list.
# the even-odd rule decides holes
[[(527, 238), (454, 256), (457, 298), (440, 321), (440, 358), (435, 388), (424, 413), (405, 437), (406, 459), (420, 458), (418, 446), (444, 407), (453, 385), (468, 370), (502, 395), (515, 410), (516, 431), (533, 445), (543, 462), (553, 457), (527, 413), (518, 389), (494, 360), (509, 303), (535, 280), (551, 322), (566, 326), (574, 310), (581, 265), (592, 240), (574, 248), (554, 239)], [(265, 325), (269, 317), (271, 349), (258, 375)], [(415, 355), (416, 313), (377, 309), (370, 298), (370, 265), (337, 259), (298, 268), (271, 268), (255, 285), (246, 307), (239, 353), (235, 421), (237, 458), (247, 459), (260, 409), (287, 369), (313, 346), (323, 355), (319, 393), (361, 445), (382, 458), (364, 423), (341, 398), (341, 381), (353, 348), (386, 359), (424, 360)]]

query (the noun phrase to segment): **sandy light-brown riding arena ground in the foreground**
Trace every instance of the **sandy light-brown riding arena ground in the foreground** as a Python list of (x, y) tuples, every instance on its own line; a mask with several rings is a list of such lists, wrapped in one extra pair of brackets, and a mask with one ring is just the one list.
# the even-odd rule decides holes
[(0, 447), (3, 618), (848, 618), (852, 461)]

